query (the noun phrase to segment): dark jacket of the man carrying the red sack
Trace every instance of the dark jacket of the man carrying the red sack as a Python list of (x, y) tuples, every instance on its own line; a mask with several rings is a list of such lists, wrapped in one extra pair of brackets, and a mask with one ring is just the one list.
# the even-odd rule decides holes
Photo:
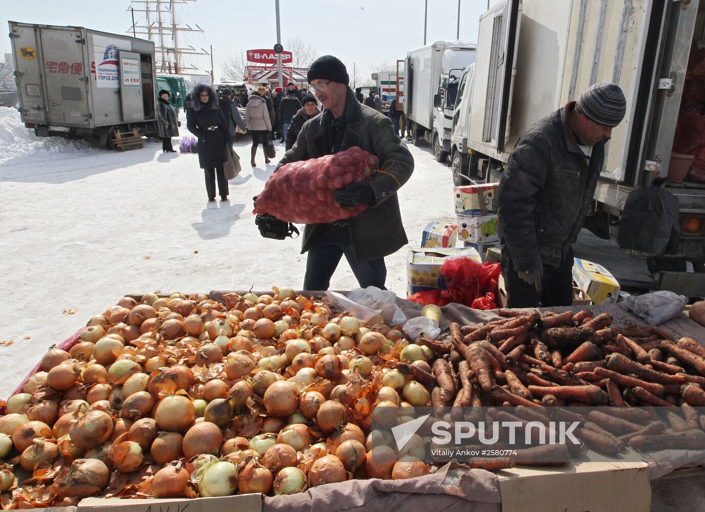
[[(379, 166), (393, 176), (379, 173), (369, 180), (374, 193), (372, 207), (347, 221), (357, 261), (383, 258), (407, 243), (396, 191), (411, 177), (414, 158), (394, 134), (391, 121), (374, 109), (360, 105), (350, 87), (344, 115), (341, 150), (359, 146), (377, 156)], [(293, 148), (286, 151), (277, 168), (289, 162), (332, 154), (329, 145), (332, 123), (333, 114), (327, 110), (304, 123)], [(306, 225), (302, 253), (316, 241), (321, 227), (323, 224)]]

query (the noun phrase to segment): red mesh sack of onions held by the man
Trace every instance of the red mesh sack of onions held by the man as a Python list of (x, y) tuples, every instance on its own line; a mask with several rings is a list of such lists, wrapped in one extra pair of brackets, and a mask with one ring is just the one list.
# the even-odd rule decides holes
[(255, 213), (297, 224), (328, 223), (360, 215), (367, 204), (342, 208), (333, 191), (363, 181), (379, 158), (357, 146), (334, 155), (287, 163), (272, 174), (255, 201)]

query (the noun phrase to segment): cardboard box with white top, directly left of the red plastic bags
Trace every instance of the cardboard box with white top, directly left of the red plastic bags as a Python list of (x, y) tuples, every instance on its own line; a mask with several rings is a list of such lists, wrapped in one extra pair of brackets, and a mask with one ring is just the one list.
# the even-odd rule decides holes
[(482, 263), (476, 250), (468, 247), (448, 247), (447, 249), (409, 249), (406, 259), (407, 295), (427, 292), (431, 289), (446, 289), (446, 280), (441, 275), (441, 265), (445, 258), (469, 256)]

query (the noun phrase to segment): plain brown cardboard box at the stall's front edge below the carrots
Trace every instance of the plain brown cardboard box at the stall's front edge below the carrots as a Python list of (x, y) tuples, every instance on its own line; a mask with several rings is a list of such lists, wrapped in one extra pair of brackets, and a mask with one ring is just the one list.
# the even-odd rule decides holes
[(497, 473), (502, 512), (649, 512), (649, 465), (643, 461), (575, 461)]

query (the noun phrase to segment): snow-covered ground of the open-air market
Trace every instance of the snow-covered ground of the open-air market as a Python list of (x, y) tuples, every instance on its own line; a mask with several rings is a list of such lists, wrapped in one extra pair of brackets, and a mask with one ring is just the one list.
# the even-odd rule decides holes
[[(161, 154), (155, 142), (121, 153), (37, 139), (15, 111), (0, 112), (0, 279), (6, 301), (0, 398), (49, 346), (125, 294), (302, 286), (306, 256), (300, 240), (264, 239), (255, 226), (252, 196), (274, 166), (264, 166), (260, 147), (258, 165), (250, 167), (250, 139), (235, 144), (243, 172), (230, 182), (230, 200), (208, 204), (195, 154)], [(281, 158), (283, 146), (276, 149)], [(415, 171), (399, 196), (411, 247), (420, 244), (431, 220), (453, 221), (455, 213), (450, 170), (434, 161), (430, 148), (409, 149)], [(406, 256), (403, 248), (386, 258), (386, 285), (399, 296), (405, 296)], [(331, 289), (355, 287), (343, 258)]]

